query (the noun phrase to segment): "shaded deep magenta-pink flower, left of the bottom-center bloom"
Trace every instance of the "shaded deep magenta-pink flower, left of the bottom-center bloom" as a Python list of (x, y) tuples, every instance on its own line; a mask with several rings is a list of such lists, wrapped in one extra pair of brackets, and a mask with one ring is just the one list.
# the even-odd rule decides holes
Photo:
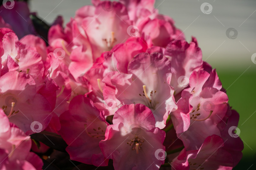
[(70, 101), (69, 111), (60, 116), (59, 133), (69, 145), (66, 151), (70, 159), (92, 164), (107, 166), (99, 142), (104, 140), (107, 122), (104, 112), (100, 112), (93, 102), (82, 95)]

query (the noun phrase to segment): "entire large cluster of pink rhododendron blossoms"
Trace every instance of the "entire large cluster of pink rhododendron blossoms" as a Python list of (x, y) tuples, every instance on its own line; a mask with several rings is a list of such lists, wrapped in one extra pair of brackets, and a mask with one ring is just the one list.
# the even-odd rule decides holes
[[(43, 130), (63, 138), (70, 160), (96, 167), (235, 167), (239, 114), (196, 38), (188, 43), (154, 0), (92, 3), (65, 27), (58, 17), (47, 46), (31, 34), (26, 3), (1, 7), (0, 169), (42, 169), (30, 135)], [(21, 10), (30, 35), (10, 20)]]

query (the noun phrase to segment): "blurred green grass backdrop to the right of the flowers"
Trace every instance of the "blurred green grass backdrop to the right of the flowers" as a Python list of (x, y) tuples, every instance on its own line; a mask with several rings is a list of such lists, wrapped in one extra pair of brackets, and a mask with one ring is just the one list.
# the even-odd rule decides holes
[(216, 66), (222, 86), (228, 88), (229, 104), (240, 114), (238, 128), (241, 130), (244, 150), (242, 160), (235, 170), (256, 169), (256, 91), (253, 88), (256, 84), (256, 64), (251, 65), (249, 69), (248, 67), (223, 69)]

